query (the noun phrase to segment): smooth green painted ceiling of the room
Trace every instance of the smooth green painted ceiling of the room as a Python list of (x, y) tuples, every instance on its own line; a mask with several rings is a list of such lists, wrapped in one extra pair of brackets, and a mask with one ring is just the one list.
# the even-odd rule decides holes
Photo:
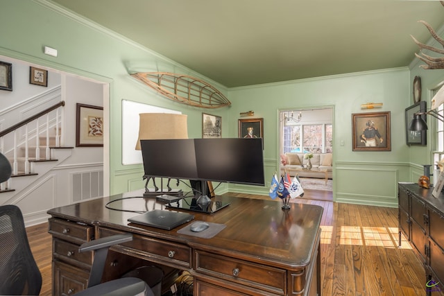
[[(53, 0), (207, 78), (240, 87), (407, 67), (438, 1)], [(164, 71), (158, 69), (158, 71)]]

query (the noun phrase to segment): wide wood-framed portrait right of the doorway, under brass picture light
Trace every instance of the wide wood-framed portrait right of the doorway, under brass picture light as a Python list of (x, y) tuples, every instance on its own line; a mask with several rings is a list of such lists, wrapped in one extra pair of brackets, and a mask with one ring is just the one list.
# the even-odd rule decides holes
[(352, 114), (353, 151), (391, 151), (390, 112)]

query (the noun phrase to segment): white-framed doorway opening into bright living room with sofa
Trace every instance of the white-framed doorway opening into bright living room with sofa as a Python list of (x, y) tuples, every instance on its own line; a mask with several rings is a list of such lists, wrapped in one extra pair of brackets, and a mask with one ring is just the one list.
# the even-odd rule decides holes
[(332, 200), (333, 108), (280, 110), (279, 118), (280, 173), (298, 175), (303, 198)]

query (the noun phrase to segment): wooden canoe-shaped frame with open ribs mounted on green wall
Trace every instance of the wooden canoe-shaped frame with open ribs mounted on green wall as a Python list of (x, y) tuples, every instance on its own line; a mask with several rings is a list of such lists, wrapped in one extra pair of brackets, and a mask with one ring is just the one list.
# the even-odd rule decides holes
[(133, 73), (131, 76), (167, 98), (185, 105), (210, 109), (231, 105), (221, 92), (195, 77), (169, 72)]

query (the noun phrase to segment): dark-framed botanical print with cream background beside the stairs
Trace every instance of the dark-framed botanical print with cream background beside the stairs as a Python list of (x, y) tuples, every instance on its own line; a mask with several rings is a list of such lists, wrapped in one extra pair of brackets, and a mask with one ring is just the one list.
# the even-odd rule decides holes
[(76, 147), (103, 147), (103, 107), (77, 103)]

